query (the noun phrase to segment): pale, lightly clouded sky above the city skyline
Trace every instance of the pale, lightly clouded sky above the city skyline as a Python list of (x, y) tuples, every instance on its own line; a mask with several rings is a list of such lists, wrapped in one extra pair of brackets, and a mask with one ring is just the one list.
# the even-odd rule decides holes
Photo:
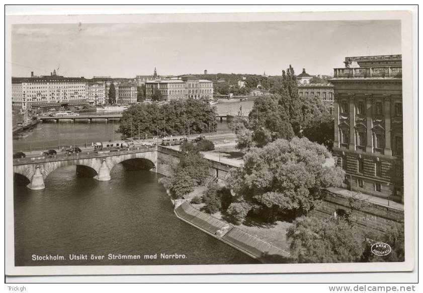
[(332, 75), (346, 56), (401, 54), (401, 23), (383, 21), (31, 24), (12, 28), (12, 76), (134, 78), (281, 75), (291, 64)]

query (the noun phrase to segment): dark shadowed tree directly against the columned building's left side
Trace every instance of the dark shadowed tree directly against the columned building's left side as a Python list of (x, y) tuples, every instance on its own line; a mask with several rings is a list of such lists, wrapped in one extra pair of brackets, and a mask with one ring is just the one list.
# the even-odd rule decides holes
[(331, 151), (334, 140), (333, 120), (329, 113), (322, 113), (304, 125), (302, 135), (311, 141), (324, 144)]

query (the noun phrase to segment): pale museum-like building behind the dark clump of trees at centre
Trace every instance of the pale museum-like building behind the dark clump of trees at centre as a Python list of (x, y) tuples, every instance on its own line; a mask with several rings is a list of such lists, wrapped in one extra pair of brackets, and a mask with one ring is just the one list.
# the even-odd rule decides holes
[(146, 82), (145, 91), (148, 100), (155, 91), (160, 91), (166, 101), (187, 98), (212, 99), (213, 83), (194, 76), (183, 76), (182, 78)]

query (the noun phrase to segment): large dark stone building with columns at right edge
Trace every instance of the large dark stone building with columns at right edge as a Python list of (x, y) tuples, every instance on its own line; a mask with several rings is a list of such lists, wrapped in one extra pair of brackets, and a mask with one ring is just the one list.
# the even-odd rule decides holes
[(401, 55), (346, 57), (334, 69), (333, 155), (349, 189), (403, 202)]

